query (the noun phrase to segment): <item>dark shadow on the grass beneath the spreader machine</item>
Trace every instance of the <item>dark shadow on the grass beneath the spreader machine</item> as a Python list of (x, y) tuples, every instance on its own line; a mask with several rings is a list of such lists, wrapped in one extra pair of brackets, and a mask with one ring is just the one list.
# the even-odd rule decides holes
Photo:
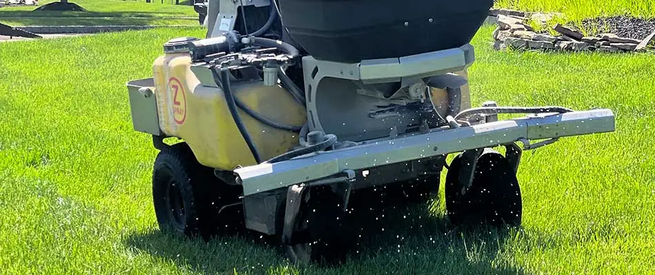
[(209, 242), (155, 230), (125, 243), (203, 274), (523, 274), (503, 249), (516, 230), (454, 228), (423, 206), (357, 210), (360, 241), (342, 265), (290, 265), (275, 239), (248, 230)]

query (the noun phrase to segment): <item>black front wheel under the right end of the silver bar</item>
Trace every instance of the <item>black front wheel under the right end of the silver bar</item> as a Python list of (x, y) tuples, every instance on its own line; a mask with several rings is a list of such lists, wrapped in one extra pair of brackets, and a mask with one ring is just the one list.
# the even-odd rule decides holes
[(521, 189), (507, 159), (498, 152), (485, 151), (478, 157), (469, 188), (459, 180), (462, 163), (463, 155), (455, 157), (446, 175), (450, 221), (460, 225), (520, 225)]

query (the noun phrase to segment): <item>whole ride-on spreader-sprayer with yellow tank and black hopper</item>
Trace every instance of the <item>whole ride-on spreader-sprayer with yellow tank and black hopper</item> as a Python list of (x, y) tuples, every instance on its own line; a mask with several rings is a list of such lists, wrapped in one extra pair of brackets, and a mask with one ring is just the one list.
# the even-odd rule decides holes
[(152, 78), (128, 83), (134, 129), (159, 150), (160, 227), (243, 225), (313, 261), (357, 234), (344, 223), (359, 193), (427, 201), (444, 168), (452, 223), (520, 224), (521, 153), (612, 132), (614, 113), (472, 107), (470, 41), (492, 5), (208, 1), (206, 37), (168, 41)]

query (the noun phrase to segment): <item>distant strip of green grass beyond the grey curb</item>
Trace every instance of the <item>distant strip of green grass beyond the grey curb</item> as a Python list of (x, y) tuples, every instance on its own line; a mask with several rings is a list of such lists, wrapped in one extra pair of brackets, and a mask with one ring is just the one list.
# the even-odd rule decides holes
[[(46, 5), (53, 0), (41, 1)], [(198, 25), (190, 5), (122, 0), (76, 0), (88, 12), (33, 11), (35, 6), (0, 8), (0, 23), (8, 25)]]

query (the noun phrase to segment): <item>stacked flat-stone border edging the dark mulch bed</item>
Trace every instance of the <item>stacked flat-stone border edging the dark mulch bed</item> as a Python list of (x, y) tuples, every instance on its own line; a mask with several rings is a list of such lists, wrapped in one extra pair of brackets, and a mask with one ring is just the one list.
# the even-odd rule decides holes
[(648, 45), (655, 41), (655, 32), (643, 39), (643, 41), (618, 37), (616, 34), (587, 37), (579, 30), (560, 24), (553, 28), (559, 35), (551, 36), (548, 33), (534, 32), (533, 28), (525, 23), (525, 17), (498, 14), (496, 18), (498, 27), (493, 34), (494, 49), (496, 50), (512, 47), (519, 50), (561, 50), (570, 52), (643, 52)]

